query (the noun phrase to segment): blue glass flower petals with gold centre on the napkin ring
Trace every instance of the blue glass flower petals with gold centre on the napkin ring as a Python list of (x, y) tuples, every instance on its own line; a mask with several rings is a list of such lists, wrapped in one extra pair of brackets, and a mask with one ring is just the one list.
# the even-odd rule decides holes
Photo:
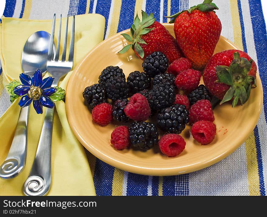
[(49, 97), (57, 91), (55, 87), (51, 87), (54, 81), (53, 77), (46, 77), (42, 80), (42, 72), (37, 69), (32, 77), (21, 73), (19, 79), (22, 84), (14, 87), (13, 92), (22, 96), (19, 100), (20, 107), (29, 106), (33, 101), (33, 107), (37, 114), (43, 113), (43, 106), (54, 107), (55, 104)]

